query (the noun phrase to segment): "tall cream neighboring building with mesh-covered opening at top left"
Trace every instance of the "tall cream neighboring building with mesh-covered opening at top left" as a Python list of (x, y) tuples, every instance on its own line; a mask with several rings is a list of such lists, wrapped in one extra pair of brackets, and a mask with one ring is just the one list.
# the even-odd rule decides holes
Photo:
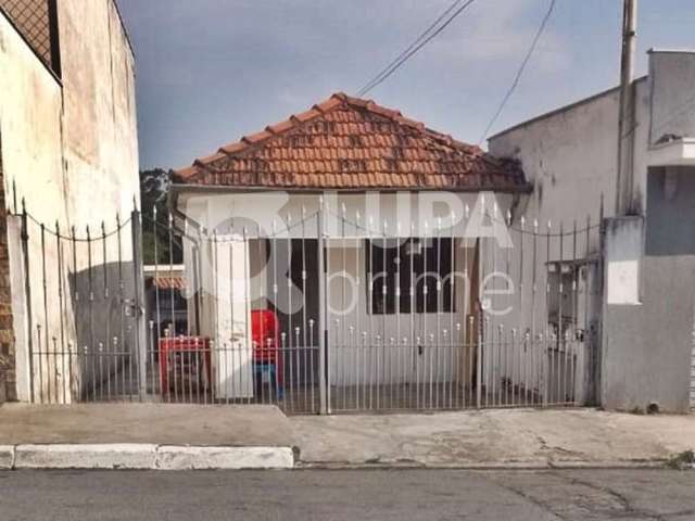
[[(134, 201), (139, 201), (135, 56), (115, 1), (0, 0), (0, 71), (2, 208), (21, 213), (24, 201), (30, 218), (48, 230), (58, 226), (70, 236), (75, 227), (80, 238), (87, 227), (93, 236), (100, 234), (102, 223), (113, 230), (117, 214), (127, 219)], [(76, 343), (76, 320), (71, 317), (77, 319), (81, 312), (73, 309), (70, 301), (59, 302), (60, 291), (46, 295), (40, 288), (61, 284), (63, 295), (89, 296), (79, 288), (86, 285), (83, 272), (92, 252), (88, 254), (79, 242), (68, 277), (62, 269), (72, 258), (67, 241), (59, 251), (49, 231), (48, 244), (42, 244), (33, 223), (29, 219), (23, 255), (20, 219), (1, 216), (0, 380), (7, 381), (9, 399), (28, 401), (31, 394), (43, 393), (36, 381), (43, 381), (46, 374), (37, 371), (48, 370), (55, 378), (53, 401), (70, 401), (62, 355), (53, 354), (50, 363), (47, 356), (43, 361), (49, 367), (30, 369), (28, 345), (29, 340), (38, 340), (37, 328), (49, 343), (51, 336), (61, 339), (63, 352)], [(118, 255), (112, 246), (105, 254), (112, 260)], [(96, 263), (102, 253), (93, 255)], [(119, 255), (124, 263), (131, 263), (129, 240)], [(29, 272), (25, 257), (31, 259)], [(118, 307), (91, 300), (98, 301), (96, 316), (103, 316), (98, 306)], [(38, 313), (45, 309), (46, 316)], [(37, 345), (34, 350), (36, 354)], [(42, 350), (49, 346), (43, 344)]]

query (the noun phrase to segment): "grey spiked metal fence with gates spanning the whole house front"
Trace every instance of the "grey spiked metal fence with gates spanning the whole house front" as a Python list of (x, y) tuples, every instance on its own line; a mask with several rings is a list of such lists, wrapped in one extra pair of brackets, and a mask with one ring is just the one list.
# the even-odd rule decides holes
[(458, 225), (377, 225), (324, 204), (267, 230), (136, 211), (81, 233), (24, 212), (31, 399), (288, 414), (591, 403), (601, 220), (486, 215), (503, 239), (462, 231), (468, 208)]

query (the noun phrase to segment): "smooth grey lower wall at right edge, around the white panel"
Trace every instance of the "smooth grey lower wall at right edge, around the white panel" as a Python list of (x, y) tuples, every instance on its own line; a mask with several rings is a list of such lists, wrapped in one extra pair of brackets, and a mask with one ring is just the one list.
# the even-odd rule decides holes
[[(672, 194), (665, 190), (665, 168), (648, 174), (641, 302), (605, 306), (602, 403), (611, 409), (644, 411), (653, 403), (661, 411), (685, 412), (690, 407), (695, 169), (675, 170), (670, 174), (677, 178)], [(606, 247), (634, 236), (630, 228), (635, 220), (642, 219), (610, 221)]]

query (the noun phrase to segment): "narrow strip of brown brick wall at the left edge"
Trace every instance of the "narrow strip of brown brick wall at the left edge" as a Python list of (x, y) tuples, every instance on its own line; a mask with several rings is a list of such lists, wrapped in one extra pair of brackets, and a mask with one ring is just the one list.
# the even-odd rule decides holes
[(0, 139), (0, 403), (16, 399), (14, 360), (10, 257), (8, 251), (8, 211), (2, 173), (2, 140)]

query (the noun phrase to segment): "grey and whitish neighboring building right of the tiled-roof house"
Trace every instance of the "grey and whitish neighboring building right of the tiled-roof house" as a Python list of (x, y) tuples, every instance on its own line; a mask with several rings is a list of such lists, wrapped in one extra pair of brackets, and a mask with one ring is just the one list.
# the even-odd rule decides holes
[[(596, 402), (622, 410), (695, 407), (695, 53), (649, 51), (634, 82), (631, 216), (616, 216), (619, 90), (611, 89), (490, 138), (520, 162), (533, 193), (519, 209), (580, 224), (605, 201), (598, 289)], [(603, 255), (602, 255), (603, 247)]]

